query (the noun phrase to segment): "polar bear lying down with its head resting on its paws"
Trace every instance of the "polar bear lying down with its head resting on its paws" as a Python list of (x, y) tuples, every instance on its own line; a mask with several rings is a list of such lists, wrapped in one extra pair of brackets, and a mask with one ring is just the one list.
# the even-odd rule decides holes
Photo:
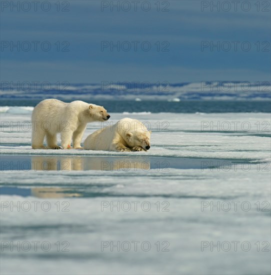
[(126, 117), (88, 135), (83, 148), (121, 152), (146, 151), (150, 148), (150, 133), (139, 120)]

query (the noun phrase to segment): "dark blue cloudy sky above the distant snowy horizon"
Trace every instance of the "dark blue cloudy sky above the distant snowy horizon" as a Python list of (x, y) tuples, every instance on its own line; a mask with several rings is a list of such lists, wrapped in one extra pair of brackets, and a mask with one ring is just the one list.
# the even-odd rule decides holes
[(0, 3), (1, 81), (270, 81), (270, 1)]

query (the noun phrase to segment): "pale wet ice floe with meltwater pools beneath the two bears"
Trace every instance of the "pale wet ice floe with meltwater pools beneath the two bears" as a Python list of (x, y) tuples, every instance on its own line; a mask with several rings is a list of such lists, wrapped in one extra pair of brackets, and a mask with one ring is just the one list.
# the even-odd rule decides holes
[(1, 273), (269, 274), (270, 115), (124, 116), (149, 151), (32, 150), (1, 114)]

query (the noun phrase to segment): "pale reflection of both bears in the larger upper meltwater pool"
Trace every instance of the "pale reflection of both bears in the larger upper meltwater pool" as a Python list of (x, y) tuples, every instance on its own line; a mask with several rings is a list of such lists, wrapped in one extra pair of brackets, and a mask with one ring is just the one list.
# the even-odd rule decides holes
[(150, 161), (147, 159), (101, 156), (32, 156), (31, 169), (43, 171), (73, 170), (118, 170), (148, 171)]

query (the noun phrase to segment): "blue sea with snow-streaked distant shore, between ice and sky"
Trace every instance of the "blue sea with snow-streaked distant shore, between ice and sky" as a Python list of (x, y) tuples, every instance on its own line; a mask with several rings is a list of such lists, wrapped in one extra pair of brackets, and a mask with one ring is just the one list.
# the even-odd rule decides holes
[(270, 112), (268, 81), (169, 83), (1, 82), (1, 106), (35, 106), (45, 98), (83, 100), (111, 112)]

